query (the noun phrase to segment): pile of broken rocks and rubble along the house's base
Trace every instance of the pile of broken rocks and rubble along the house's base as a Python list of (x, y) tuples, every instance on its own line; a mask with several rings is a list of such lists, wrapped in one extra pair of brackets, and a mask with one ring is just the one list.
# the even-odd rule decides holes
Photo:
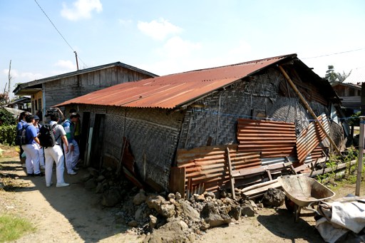
[[(235, 200), (224, 190), (217, 197), (205, 192), (185, 200), (179, 192), (145, 192), (126, 180), (113, 180), (111, 170), (104, 170), (103, 175), (93, 169), (89, 172), (84, 177), (86, 189), (101, 193), (103, 206), (120, 207), (120, 219), (136, 233), (145, 234), (145, 242), (193, 242), (206, 229), (254, 217), (263, 203), (277, 207), (284, 202), (283, 192), (276, 189), (268, 190), (258, 204), (245, 200), (240, 190), (236, 190)], [(279, 199), (277, 195), (281, 195)]]

